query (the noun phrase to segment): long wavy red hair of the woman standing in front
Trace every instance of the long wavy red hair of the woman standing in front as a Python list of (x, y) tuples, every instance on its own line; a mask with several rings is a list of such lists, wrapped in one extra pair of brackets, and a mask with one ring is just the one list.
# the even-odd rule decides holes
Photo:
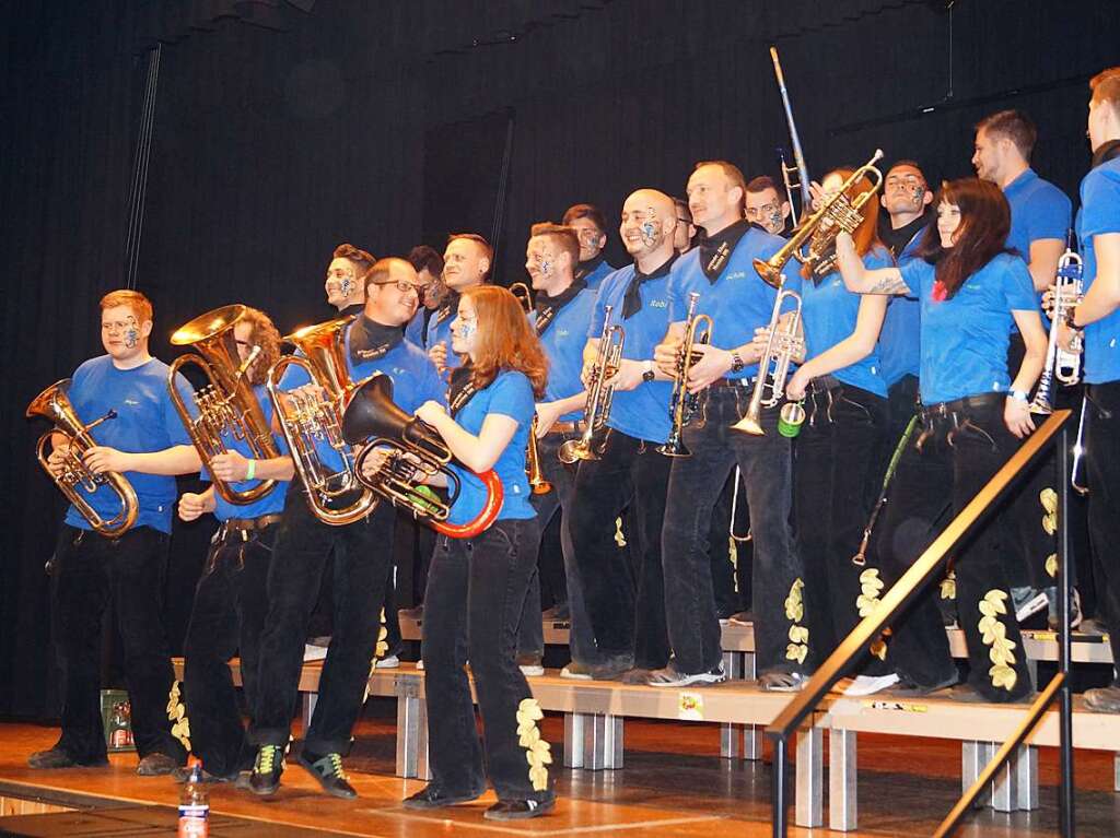
[(529, 378), (533, 395), (543, 398), (549, 359), (517, 298), (500, 285), (478, 285), (464, 291), (463, 296), (470, 300), (478, 319), (472, 377), (475, 387), (487, 387), (501, 370), (515, 369)]

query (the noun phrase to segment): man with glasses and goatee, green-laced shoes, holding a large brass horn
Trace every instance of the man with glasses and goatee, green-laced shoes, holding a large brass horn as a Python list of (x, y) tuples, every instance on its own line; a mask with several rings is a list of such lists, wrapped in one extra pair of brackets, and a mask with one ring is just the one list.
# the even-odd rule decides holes
[[(401, 258), (374, 263), (364, 276), (365, 308), (347, 326), (344, 352), (351, 382), (374, 373), (393, 379), (393, 399), (413, 413), (428, 399), (442, 401), (444, 388), (423, 351), (404, 339), (403, 327), (419, 304), (420, 282)], [(281, 390), (307, 384), (307, 375), (289, 367)], [(328, 445), (316, 449), (328, 472), (349, 468)], [(333, 556), (334, 633), (319, 680), (319, 699), (304, 737), (299, 762), (329, 794), (356, 795), (342, 768), (365, 697), (377, 640), (379, 616), (393, 555), (394, 510), (380, 502), (368, 515), (332, 526), (312, 514), (301, 480), (289, 484), (283, 518), (269, 567), (269, 611), (261, 634), (260, 667), (250, 740), (256, 760), (250, 789), (272, 794), (280, 784), (291, 732), (307, 618), (319, 578)], [(349, 506), (353, 492), (339, 502)], [(320, 501), (332, 506), (329, 500)]]

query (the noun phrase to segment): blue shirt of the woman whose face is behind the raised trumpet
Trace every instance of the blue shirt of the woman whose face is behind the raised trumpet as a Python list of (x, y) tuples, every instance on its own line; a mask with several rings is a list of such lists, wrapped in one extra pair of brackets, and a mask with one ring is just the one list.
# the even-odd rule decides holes
[[(880, 246), (864, 256), (868, 269), (890, 267), (890, 252)], [(849, 291), (839, 271), (825, 275), (818, 285), (812, 280), (801, 283), (801, 321), (805, 331), (805, 358), (815, 358), (856, 331), (862, 294)], [(837, 380), (886, 397), (887, 385), (879, 370), (879, 347), (864, 358), (832, 373)]]

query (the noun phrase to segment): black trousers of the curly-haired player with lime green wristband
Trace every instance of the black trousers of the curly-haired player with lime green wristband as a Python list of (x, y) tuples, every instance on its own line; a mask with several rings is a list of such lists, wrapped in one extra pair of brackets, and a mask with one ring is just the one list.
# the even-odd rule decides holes
[(190, 748), (212, 774), (228, 776), (252, 765), (252, 748), (237, 708), (230, 658), (241, 657), (241, 686), (252, 708), (259, 685), (265, 585), (279, 524), (241, 535), (218, 529), (195, 589), (184, 641), (184, 681)]

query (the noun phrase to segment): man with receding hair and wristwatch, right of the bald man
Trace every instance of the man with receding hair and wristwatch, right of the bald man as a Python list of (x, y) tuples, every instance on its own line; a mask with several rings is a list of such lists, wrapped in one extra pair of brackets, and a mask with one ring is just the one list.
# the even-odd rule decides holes
[[(760, 346), (755, 331), (771, 322), (777, 296), (758, 276), (753, 261), (766, 260), (782, 246), (781, 238), (744, 218), (745, 191), (743, 173), (726, 161), (698, 163), (689, 178), (689, 207), (704, 238), (673, 266), (672, 324), (655, 350), (657, 366), (673, 375), (690, 295), (697, 294), (697, 313), (710, 316), (715, 324), (710, 342), (691, 347), (700, 357), (690, 368), (687, 386), (690, 393), (707, 390), (707, 402), (702, 421), (698, 417), (682, 432), (691, 456), (675, 458), (669, 479), (662, 561), (673, 659), (651, 677), (650, 682), (657, 686), (726, 678), (706, 544), (712, 506), (736, 464), (746, 481), (752, 512), (752, 593), (760, 680), (768, 689), (796, 689), (802, 681), (804, 655), (792, 649), (793, 643), (787, 647), (791, 629), (801, 627), (804, 608), (790, 531), (790, 440), (777, 432), (777, 406), (762, 413), (764, 435), (731, 430), (758, 375)], [(800, 277), (793, 274), (786, 285), (800, 288)]]

